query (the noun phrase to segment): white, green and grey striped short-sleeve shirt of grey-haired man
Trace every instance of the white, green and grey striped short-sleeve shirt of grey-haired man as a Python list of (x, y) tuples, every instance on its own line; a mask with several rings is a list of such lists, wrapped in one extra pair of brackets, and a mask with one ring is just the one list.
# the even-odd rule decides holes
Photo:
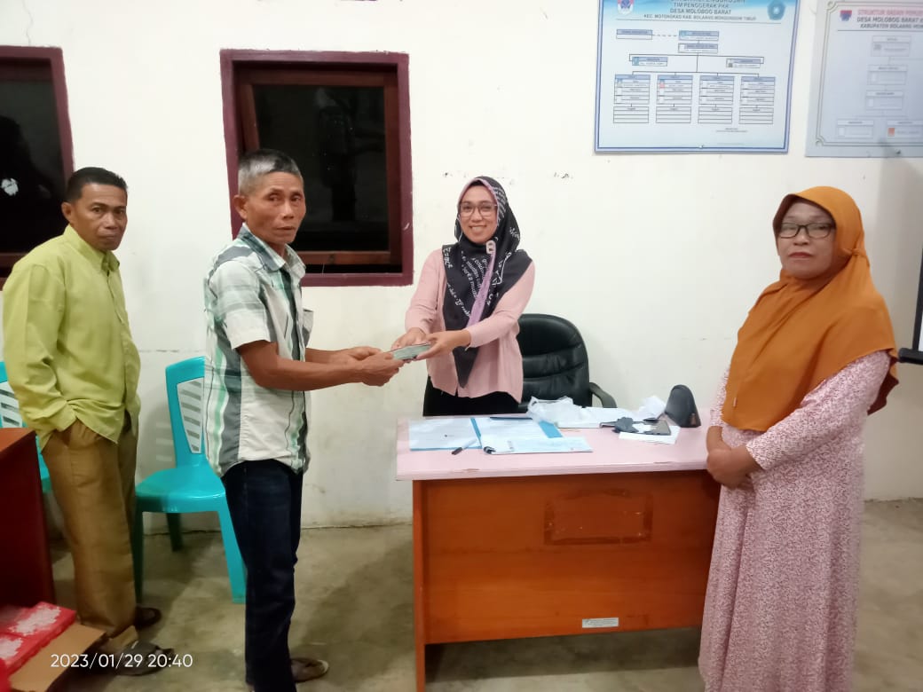
[(310, 393), (260, 387), (237, 351), (270, 341), (283, 358), (305, 360), (305, 265), (285, 249), (283, 259), (244, 225), (205, 279), (205, 444), (219, 475), (241, 461), (261, 459), (302, 472), (309, 459)]

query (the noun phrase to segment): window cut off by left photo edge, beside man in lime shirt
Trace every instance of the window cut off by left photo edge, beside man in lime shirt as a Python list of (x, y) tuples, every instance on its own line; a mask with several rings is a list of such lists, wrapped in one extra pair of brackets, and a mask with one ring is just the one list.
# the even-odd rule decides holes
[(0, 46), (0, 284), (64, 230), (73, 171), (61, 49)]

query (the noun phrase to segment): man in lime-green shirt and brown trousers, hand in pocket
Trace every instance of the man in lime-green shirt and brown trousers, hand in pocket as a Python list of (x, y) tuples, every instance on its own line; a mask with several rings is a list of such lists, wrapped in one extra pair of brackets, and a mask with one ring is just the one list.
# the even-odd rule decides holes
[(64, 233), (20, 259), (4, 286), (6, 372), (64, 516), (80, 621), (105, 632), (110, 670), (152, 673), (172, 650), (138, 641), (136, 628), (160, 613), (138, 607), (132, 573), (140, 361), (112, 252), (125, 235), (127, 186), (83, 168), (65, 197)]

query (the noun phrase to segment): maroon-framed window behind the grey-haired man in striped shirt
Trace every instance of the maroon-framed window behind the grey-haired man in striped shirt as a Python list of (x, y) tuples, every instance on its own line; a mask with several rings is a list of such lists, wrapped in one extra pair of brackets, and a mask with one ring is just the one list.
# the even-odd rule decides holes
[(245, 151), (298, 163), (307, 213), (292, 246), (308, 285), (413, 280), (407, 67), (406, 54), (222, 51), (231, 194)]

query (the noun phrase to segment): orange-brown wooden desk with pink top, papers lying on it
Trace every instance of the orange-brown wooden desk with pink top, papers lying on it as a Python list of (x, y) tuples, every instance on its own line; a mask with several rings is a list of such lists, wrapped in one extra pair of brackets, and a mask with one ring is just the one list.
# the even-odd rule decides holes
[(676, 445), (583, 436), (592, 453), (411, 452), (416, 689), (426, 644), (700, 626), (720, 486), (706, 426)]

